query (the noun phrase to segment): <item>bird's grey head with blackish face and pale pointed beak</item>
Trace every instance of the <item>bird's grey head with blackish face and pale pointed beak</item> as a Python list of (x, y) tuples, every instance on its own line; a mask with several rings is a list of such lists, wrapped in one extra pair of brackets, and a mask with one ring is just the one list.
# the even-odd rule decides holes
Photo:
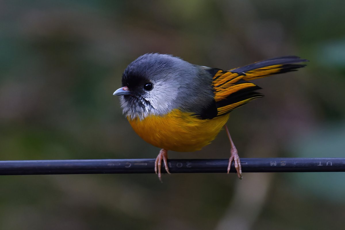
[(185, 90), (183, 71), (190, 71), (191, 66), (180, 58), (158, 53), (144, 54), (130, 63), (122, 74), (122, 87), (114, 92), (120, 96), (124, 114), (130, 119), (144, 119), (178, 108), (178, 95)]

